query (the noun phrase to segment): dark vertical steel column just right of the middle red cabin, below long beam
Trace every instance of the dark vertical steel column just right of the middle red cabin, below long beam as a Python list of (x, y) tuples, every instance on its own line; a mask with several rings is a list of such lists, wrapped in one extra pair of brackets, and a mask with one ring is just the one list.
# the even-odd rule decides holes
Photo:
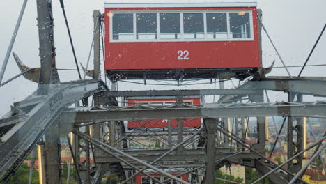
[(215, 144), (217, 123), (215, 119), (206, 119), (206, 174), (205, 183), (215, 183)]

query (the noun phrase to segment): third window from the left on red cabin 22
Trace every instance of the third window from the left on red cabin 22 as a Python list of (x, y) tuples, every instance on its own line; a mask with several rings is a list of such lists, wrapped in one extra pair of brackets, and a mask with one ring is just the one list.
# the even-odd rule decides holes
[(180, 13), (160, 13), (160, 39), (180, 38)]

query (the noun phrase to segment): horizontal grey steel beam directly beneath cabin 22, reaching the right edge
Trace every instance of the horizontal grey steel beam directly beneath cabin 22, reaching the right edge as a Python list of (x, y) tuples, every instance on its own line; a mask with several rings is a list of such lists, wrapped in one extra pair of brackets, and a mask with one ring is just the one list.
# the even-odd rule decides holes
[(258, 95), (260, 90), (284, 91), (325, 97), (326, 77), (266, 77), (260, 81), (246, 82), (238, 89), (108, 91), (107, 96)]

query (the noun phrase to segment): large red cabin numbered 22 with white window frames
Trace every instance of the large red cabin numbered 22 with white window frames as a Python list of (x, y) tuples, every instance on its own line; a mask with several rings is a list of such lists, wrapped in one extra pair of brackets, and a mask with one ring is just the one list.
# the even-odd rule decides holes
[(109, 79), (244, 78), (261, 67), (254, 1), (109, 1)]

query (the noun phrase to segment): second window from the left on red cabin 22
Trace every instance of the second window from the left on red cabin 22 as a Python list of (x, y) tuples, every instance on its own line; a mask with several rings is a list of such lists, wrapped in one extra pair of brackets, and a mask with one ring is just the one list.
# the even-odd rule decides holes
[(157, 18), (156, 13), (137, 13), (137, 39), (155, 40), (157, 39)]

